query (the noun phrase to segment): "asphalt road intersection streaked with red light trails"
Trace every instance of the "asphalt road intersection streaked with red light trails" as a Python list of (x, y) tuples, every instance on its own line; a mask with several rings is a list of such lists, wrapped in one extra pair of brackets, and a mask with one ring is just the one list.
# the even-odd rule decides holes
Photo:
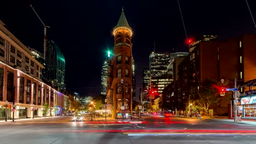
[(148, 123), (72, 122), (71, 117), (1, 122), (0, 143), (255, 143), (251, 124), (143, 116)]

